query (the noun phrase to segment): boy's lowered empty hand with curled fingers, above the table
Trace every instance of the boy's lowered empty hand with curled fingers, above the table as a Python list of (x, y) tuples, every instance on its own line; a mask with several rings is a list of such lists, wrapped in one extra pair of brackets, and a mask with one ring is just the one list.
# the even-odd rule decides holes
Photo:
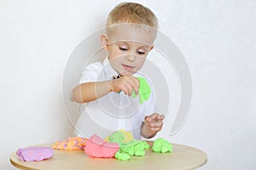
[(153, 138), (156, 133), (160, 132), (163, 127), (163, 120), (165, 116), (158, 113), (153, 113), (150, 116), (145, 117), (141, 127), (141, 135), (145, 139)]

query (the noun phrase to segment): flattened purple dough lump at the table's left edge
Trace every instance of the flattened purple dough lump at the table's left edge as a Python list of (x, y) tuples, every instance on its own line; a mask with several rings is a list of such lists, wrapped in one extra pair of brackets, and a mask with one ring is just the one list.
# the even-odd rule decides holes
[(54, 150), (43, 146), (28, 147), (17, 150), (16, 154), (20, 161), (43, 161), (53, 156)]

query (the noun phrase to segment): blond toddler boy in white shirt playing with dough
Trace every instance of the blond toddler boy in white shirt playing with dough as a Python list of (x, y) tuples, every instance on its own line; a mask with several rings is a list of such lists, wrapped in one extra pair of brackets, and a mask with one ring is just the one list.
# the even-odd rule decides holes
[(149, 139), (162, 129), (164, 116), (154, 113), (154, 89), (143, 104), (131, 97), (138, 94), (137, 77), (144, 77), (138, 71), (154, 48), (157, 25), (154, 13), (138, 3), (120, 3), (108, 14), (101, 37), (108, 57), (103, 63), (88, 65), (79, 85), (73, 88), (73, 100), (86, 103), (76, 135), (96, 133), (104, 138), (125, 129), (136, 139)]

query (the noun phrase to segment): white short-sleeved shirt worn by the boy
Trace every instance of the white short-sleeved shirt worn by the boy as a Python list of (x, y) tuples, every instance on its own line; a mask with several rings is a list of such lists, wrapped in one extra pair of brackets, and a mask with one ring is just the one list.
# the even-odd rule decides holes
[[(118, 73), (113, 70), (108, 59), (88, 65), (83, 71), (80, 83), (101, 82), (113, 79)], [(138, 72), (134, 77), (143, 77)], [(144, 77), (145, 78), (145, 77)], [(146, 79), (147, 80), (147, 79)], [(81, 115), (75, 125), (75, 135), (89, 138), (96, 133), (103, 139), (119, 129), (130, 131), (135, 139), (141, 139), (141, 125), (144, 117), (154, 112), (154, 89), (143, 104), (136, 98), (120, 93), (111, 92), (100, 99), (82, 104)]]

